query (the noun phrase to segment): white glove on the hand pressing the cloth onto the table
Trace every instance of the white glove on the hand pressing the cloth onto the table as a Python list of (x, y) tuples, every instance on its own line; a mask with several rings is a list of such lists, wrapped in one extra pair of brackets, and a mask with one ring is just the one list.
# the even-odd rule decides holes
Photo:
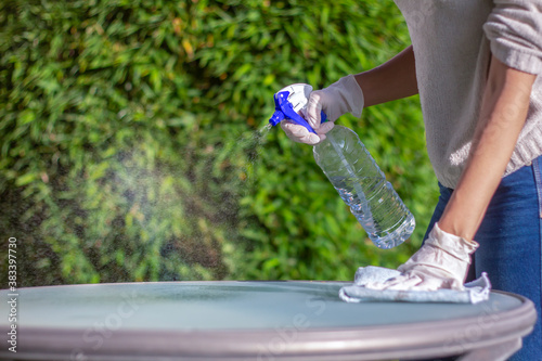
[(384, 283), (371, 283), (373, 289), (463, 291), (470, 255), (478, 243), (442, 231), (435, 223), (424, 245), (397, 269), (402, 274)]

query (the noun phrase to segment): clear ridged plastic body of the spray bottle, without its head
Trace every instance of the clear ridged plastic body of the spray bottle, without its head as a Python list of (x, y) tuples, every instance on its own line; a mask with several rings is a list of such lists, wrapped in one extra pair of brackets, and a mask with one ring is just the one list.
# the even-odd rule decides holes
[(400, 245), (415, 220), (352, 130), (335, 126), (314, 146), (314, 159), (379, 248)]

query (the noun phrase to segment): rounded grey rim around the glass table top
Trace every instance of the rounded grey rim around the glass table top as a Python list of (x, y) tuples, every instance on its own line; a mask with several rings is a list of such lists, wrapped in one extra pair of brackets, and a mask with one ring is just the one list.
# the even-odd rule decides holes
[[(115, 331), (99, 348), (86, 330), (21, 327), (17, 353), (0, 350), (2, 360), (389, 360), (463, 354), (503, 344), (520, 345), (537, 321), (532, 301), (498, 314), (440, 322), (296, 330)], [(9, 331), (0, 326), (0, 333)], [(438, 332), (436, 332), (438, 331)], [(202, 337), (205, 336), (205, 337)], [(54, 343), (63, 338), (62, 345)], [(422, 340), (422, 343), (421, 343)], [(70, 346), (67, 348), (66, 344)], [(139, 357), (133, 357), (134, 351)], [(514, 351), (514, 350), (512, 350)]]

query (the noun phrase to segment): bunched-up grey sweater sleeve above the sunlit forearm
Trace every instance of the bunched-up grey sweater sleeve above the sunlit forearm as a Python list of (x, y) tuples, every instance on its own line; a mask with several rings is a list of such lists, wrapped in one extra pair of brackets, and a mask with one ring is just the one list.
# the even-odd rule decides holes
[(515, 69), (542, 74), (542, 0), (493, 0), (483, 30), (491, 53)]

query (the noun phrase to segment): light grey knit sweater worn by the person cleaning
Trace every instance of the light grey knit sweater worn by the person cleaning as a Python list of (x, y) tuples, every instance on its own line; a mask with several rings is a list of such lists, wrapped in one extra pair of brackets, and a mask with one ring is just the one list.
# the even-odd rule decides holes
[(542, 0), (395, 0), (409, 27), (429, 158), (455, 188), (480, 112), (491, 54), (538, 75), (503, 176), (542, 154)]

